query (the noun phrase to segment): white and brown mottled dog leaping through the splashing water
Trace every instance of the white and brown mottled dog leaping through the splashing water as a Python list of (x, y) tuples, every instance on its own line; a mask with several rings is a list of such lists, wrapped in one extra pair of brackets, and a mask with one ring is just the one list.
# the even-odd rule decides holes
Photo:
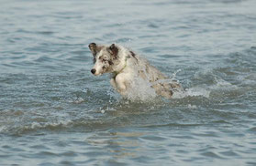
[(91, 73), (100, 76), (104, 73), (112, 73), (110, 84), (123, 96), (128, 98), (128, 91), (135, 86), (134, 80), (140, 78), (150, 83), (158, 96), (171, 99), (173, 92), (182, 89), (177, 81), (170, 81), (160, 70), (150, 65), (149, 61), (139, 57), (127, 47), (117, 44), (110, 46), (96, 45), (91, 43), (88, 46), (93, 54), (95, 66)]

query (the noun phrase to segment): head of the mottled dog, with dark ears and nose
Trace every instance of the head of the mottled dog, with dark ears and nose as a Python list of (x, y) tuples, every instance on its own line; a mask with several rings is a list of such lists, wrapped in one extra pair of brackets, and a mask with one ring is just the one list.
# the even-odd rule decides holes
[(118, 64), (118, 47), (115, 44), (106, 47), (91, 43), (89, 48), (94, 56), (95, 66), (91, 72), (95, 76), (114, 71), (113, 67)]

